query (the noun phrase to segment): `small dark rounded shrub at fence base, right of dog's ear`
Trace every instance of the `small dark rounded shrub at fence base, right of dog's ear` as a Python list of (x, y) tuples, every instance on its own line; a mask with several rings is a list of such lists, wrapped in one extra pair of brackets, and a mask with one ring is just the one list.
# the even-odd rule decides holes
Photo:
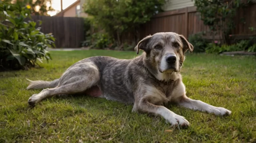
[(205, 52), (205, 48), (209, 41), (203, 38), (203, 33), (190, 35), (188, 41), (194, 46), (193, 52)]

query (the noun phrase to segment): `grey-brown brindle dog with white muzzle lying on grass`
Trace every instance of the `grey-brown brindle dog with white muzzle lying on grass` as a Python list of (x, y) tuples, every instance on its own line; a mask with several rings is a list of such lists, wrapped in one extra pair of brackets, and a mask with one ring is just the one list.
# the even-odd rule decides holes
[[(134, 48), (133, 59), (94, 56), (70, 66), (54, 81), (30, 81), (27, 89), (43, 89), (32, 95), (28, 104), (34, 106), (55, 95), (85, 94), (125, 104), (132, 104), (132, 112), (162, 116), (172, 126), (189, 126), (185, 117), (165, 106), (178, 106), (206, 111), (215, 115), (229, 115), (231, 111), (214, 107), (186, 96), (180, 74), (184, 53), (193, 51), (193, 45), (177, 33), (156, 33), (144, 37)], [(46, 88), (46, 89), (45, 89)]]

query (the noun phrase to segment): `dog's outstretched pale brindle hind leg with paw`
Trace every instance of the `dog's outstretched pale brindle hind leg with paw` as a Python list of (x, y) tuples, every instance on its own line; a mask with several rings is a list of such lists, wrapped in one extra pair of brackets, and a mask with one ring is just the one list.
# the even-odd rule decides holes
[(57, 87), (44, 89), (39, 94), (31, 96), (28, 104), (33, 106), (45, 98), (60, 94), (84, 93), (97, 85), (99, 80), (100, 73), (97, 66), (92, 62), (82, 63), (64, 72)]

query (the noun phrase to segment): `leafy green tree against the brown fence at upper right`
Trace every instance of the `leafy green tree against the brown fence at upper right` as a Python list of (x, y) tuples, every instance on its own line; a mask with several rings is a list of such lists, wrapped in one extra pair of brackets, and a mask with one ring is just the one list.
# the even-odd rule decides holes
[(234, 29), (234, 18), (239, 8), (247, 6), (242, 0), (194, 0), (201, 20), (209, 26), (213, 33), (213, 40), (216, 33), (223, 37), (223, 42), (228, 42), (228, 36)]

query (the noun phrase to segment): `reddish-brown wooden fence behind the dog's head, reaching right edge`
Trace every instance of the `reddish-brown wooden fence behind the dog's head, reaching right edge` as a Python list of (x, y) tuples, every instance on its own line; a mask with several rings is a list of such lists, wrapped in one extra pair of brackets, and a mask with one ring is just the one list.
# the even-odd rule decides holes
[[(256, 28), (256, 4), (239, 10), (234, 22), (236, 27), (232, 31), (233, 35), (255, 35), (256, 31), (251, 31), (249, 27)], [(142, 26), (140, 39), (157, 32), (175, 32), (188, 38), (191, 34), (208, 30), (209, 28), (200, 20), (196, 7), (187, 7), (155, 15)]]

